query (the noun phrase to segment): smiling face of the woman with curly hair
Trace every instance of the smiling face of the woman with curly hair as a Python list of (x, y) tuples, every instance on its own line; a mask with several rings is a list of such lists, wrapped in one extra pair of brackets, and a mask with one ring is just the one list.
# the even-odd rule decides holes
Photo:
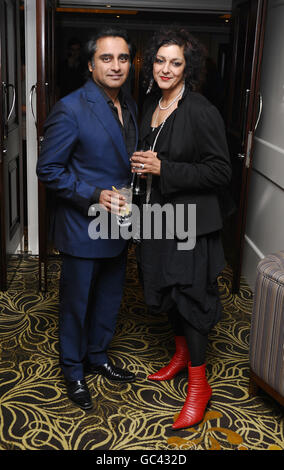
[(153, 64), (153, 77), (161, 90), (180, 88), (186, 65), (183, 49), (183, 46), (169, 44), (158, 50)]

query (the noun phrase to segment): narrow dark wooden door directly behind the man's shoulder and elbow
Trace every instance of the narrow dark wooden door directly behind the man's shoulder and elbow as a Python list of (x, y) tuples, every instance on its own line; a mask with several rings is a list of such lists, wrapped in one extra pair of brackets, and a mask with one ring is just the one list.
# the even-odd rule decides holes
[[(43, 140), (43, 125), (55, 103), (55, 0), (36, 0), (37, 17), (37, 138), (40, 152)], [(49, 204), (52, 195), (39, 181), (39, 288), (47, 289), (47, 263), (50, 252)]]

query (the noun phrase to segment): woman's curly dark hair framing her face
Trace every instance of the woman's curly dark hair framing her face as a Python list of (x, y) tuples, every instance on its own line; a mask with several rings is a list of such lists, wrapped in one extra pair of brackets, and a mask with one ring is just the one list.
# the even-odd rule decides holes
[[(172, 44), (184, 47), (185, 84), (191, 90), (200, 89), (205, 74), (206, 49), (198, 39), (183, 28), (161, 29), (153, 35), (143, 59), (143, 86), (147, 89), (153, 79), (153, 63), (160, 47)], [(158, 86), (154, 81), (152, 91), (157, 89)]]

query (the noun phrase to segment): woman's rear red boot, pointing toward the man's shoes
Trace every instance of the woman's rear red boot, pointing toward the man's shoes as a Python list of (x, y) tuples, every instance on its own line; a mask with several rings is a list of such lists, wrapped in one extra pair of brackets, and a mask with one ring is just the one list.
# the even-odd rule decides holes
[(189, 363), (189, 351), (184, 336), (175, 336), (176, 352), (171, 361), (158, 372), (148, 376), (150, 380), (170, 380), (185, 369)]

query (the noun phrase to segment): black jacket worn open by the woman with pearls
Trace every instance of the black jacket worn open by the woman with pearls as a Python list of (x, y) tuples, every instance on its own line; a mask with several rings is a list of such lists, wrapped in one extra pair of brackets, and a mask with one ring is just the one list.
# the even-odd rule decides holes
[[(143, 145), (158, 97), (149, 97), (141, 120)], [(196, 235), (223, 226), (219, 196), (231, 180), (231, 164), (223, 119), (215, 106), (199, 93), (187, 90), (179, 101), (172, 126), (170, 148), (161, 159), (160, 190), (165, 203), (196, 204)]]

